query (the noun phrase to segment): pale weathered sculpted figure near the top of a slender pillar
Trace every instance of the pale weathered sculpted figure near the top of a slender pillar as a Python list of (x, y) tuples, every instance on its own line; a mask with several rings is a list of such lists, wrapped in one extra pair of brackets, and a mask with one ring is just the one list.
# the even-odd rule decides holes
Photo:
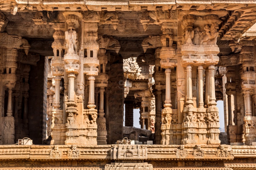
[(73, 29), (73, 27), (69, 27), (68, 31), (65, 32), (67, 54), (77, 54), (77, 36), (76, 31), (73, 31)]

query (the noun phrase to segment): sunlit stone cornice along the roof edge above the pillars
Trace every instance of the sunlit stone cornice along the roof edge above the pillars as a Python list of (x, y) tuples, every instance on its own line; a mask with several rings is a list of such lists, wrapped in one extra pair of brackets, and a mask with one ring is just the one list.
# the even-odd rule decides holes
[[(182, 9), (189, 10), (195, 8), (197, 10), (211, 9), (242, 9), (246, 5), (256, 4), (256, 0), (158, 0), (158, 1), (141, 1), (141, 0), (0, 0), (1, 11), (76, 11), (76, 10), (94, 10), (94, 11), (137, 11), (146, 7), (149, 11), (154, 11), (157, 7), (162, 6), (163, 10)], [(234, 5), (236, 4), (236, 5)], [(60, 7), (61, 5), (61, 7)]]

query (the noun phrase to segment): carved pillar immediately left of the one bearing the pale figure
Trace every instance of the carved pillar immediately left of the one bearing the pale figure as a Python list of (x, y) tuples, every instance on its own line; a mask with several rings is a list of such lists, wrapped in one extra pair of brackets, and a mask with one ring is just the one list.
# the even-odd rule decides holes
[[(60, 82), (62, 80), (62, 76), (64, 76), (64, 58), (62, 54), (64, 53), (64, 33), (63, 33), (63, 26), (62, 24), (56, 24), (54, 29), (55, 32), (53, 34), (54, 42), (52, 43), (53, 48), (53, 58), (51, 61), (51, 72), (52, 76), (55, 76), (54, 82), (54, 98), (53, 98), (53, 107), (51, 111), (48, 113), (48, 123), (50, 124), (51, 130), (50, 135), (52, 137), (51, 145), (64, 145), (64, 138), (65, 138), (65, 122), (64, 120), (64, 111), (60, 110)], [(67, 60), (66, 60), (67, 61)], [(65, 89), (66, 90), (66, 89)], [(68, 91), (68, 88), (67, 90)], [(52, 96), (51, 96), (52, 98)]]

